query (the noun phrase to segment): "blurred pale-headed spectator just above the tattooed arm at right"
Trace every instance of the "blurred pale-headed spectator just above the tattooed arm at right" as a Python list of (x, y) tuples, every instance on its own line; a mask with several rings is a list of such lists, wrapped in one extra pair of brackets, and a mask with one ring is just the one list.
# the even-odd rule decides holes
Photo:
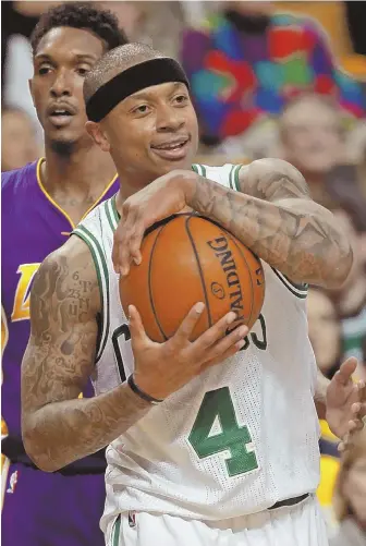
[(313, 198), (331, 208), (343, 196), (364, 214), (364, 196), (345, 165), (345, 128), (337, 102), (321, 95), (302, 95), (286, 105), (279, 128), (280, 155), (304, 174)]

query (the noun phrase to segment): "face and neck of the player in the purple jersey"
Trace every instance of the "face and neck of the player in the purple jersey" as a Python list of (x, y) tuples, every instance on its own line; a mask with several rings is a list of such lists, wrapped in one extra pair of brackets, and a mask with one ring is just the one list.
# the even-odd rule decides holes
[[(45, 132), (46, 161), (41, 182), (76, 225), (112, 180), (115, 167), (85, 131), (83, 85), (86, 74), (106, 51), (88, 31), (53, 28), (34, 57), (29, 88)], [(56, 108), (72, 116), (56, 119)]]

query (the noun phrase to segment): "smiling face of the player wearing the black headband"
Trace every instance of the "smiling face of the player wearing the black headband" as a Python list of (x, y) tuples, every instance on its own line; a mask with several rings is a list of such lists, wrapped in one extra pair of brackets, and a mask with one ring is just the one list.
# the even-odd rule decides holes
[(182, 83), (155, 85), (122, 100), (100, 123), (114, 162), (151, 180), (191, 169), (198, 146), (197, 118)]

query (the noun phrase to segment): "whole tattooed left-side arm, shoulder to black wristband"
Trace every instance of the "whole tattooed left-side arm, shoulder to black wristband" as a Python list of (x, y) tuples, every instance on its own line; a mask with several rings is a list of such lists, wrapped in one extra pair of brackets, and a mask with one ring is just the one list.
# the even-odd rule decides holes
[(91, 260), (75, 239), (44, 262), (30, 294), (22, 428), (29, 457), (46, 471), (106, 447), (150, 409), (125, 385), (78, 399), (94, 373), (100, 302)]

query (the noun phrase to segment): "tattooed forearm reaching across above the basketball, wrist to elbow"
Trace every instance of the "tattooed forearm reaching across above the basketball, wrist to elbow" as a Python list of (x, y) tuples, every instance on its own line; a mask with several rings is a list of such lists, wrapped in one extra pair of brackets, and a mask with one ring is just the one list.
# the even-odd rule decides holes
[(297, 201), (298, 205), (283, 206), (199, 178), (187, 205), (220, 223), (293, 281), (329, 288), (341, 284), (352, 265), (349, 242), (333, 227), (328, 211), (306, 211), (307, 203)]

